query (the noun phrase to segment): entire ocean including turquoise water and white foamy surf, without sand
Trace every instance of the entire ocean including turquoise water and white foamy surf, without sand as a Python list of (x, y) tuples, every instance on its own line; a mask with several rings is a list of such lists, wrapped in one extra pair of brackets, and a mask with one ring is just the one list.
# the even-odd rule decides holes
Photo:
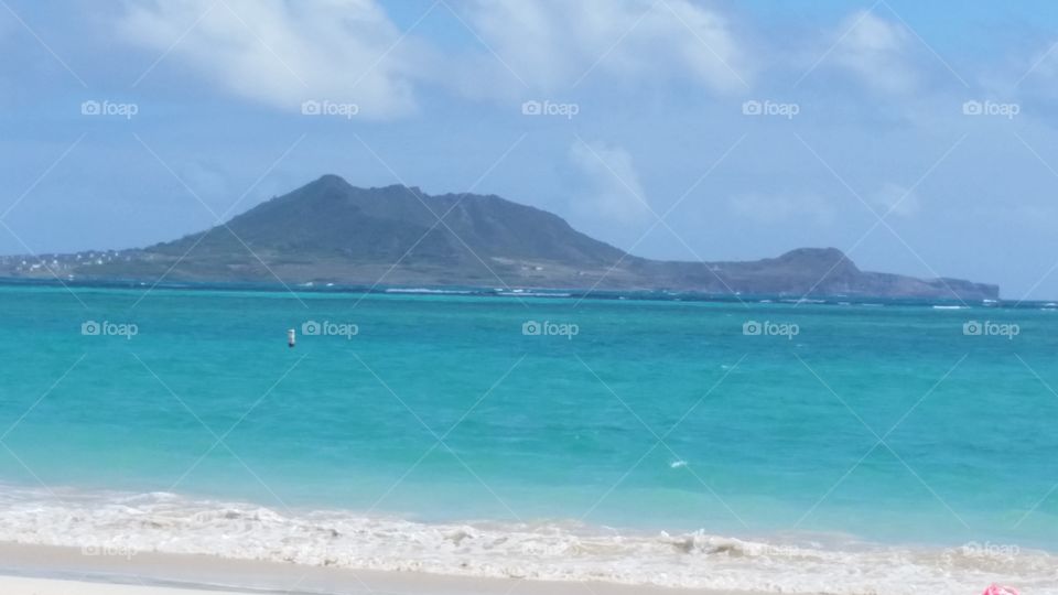
[(1058, 306), (486, 293), (0, 286), (0, 540), (1058, 593)]

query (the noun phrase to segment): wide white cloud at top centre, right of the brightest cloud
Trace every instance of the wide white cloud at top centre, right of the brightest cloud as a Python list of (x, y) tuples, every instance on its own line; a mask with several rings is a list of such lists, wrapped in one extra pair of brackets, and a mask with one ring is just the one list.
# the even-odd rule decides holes
[(748, 77), (726, 20), (689, 0), (477, 0), (465, 11), (515, 73), (496, 76), (535, 89), (568, 90), (594, 76), (665, 75), (726, 91)]

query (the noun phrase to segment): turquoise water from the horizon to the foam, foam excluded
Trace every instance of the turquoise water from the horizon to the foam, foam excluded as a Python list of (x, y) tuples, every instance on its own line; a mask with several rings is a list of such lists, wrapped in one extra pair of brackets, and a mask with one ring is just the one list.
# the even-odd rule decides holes
[(1050, 310), (74, 291), (0, 288), (0, 484), (1058, 550)]

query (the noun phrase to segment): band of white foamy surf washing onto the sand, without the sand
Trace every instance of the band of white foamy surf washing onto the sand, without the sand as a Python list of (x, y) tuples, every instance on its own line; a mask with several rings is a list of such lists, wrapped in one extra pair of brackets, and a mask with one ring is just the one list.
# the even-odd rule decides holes
[(1058, 556), (964, 544), (918, 549), (708, 534), (622, 532), (575, 522), (425, 523), (268, 508), (166, 493), (0, 488), (0, 540), (96, 552), (210, 554), (463, 576), (862, 595), (956, 595), (992, 582), (1058, 593)]

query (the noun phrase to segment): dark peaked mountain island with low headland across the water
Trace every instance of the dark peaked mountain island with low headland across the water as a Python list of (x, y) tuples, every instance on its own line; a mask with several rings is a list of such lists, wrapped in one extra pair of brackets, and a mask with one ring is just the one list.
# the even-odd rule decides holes
[(229, 221), (142, 249), (0, 259), (7, 277), (374, 285), (667, 289), (795, 296), (995, 299), (996, 285), (861, 271), (834, 248), (749, 262), (628, 255), (495, 195), (358, 188), (325, 175)]

